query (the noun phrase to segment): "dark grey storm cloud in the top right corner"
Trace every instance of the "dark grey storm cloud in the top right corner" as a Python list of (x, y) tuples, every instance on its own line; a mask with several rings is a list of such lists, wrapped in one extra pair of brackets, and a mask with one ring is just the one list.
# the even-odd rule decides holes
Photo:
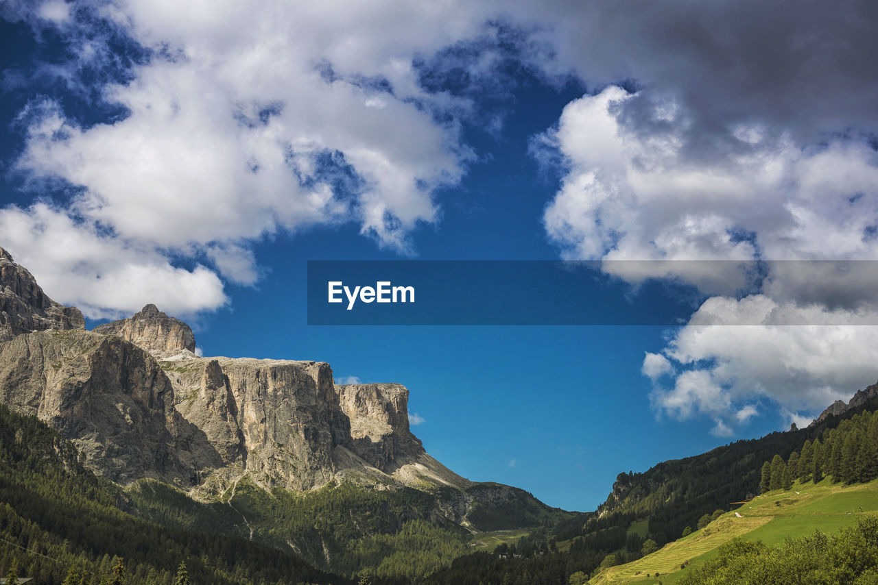
[(560, 64), (595, 85), (634, 79), (649, 89), (625, 104), (623, 119), (641, 130), (656, 103), (673, 100), (700, 146), (729, 146), (736, 125), (798, 142), (878, 131), (878, 3), (633, 0), (540, 10)]

